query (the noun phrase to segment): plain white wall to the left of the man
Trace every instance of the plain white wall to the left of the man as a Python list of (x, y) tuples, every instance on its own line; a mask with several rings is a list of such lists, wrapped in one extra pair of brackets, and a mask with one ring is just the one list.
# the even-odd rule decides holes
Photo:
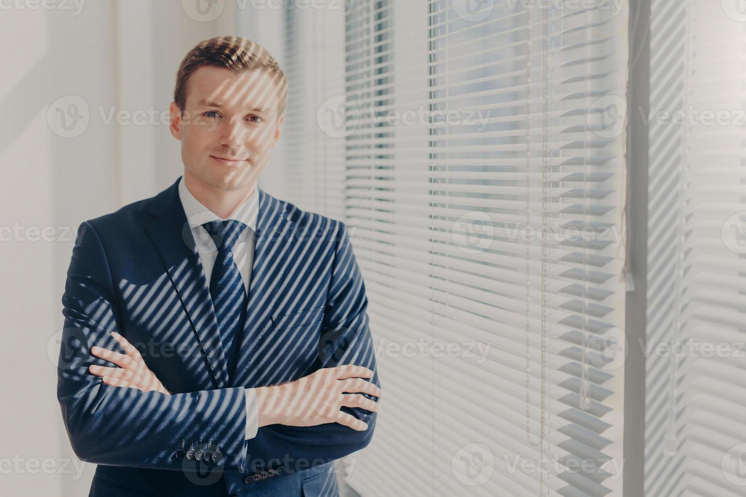
[[(182, 171), (166, 123), (107, 125), (99, 109), (153, 109), (160, 118), (186, 51), (236, 34), (231, 1), (204, 22), (189, 17), (181, 0), (77, 3), (45, 2), (51, 10), (34, 0), (0, 4), (3, 496), (87, 495), (95, 466), (73, 455), (56, 399), (54, 334), (63, 324), (75, 229), (156, 194)], [(60, 136), (58, 112), (85, 115), (85, 106), (87, 126), (78, 120), (78, 136)], [(47, 241), (35, 229), (46, 230)]]

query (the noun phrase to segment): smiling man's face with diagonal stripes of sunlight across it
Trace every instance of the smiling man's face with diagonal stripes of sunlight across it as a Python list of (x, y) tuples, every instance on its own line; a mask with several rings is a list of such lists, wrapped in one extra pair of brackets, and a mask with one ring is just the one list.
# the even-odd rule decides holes
[(207, 66), (193, 72), (184, 115), (171, 104), (171, 133), (181, 140), (185, 176), (223, 191), (252, 187), (280, 139), (278, 98), (263, 70), (236, 74)]

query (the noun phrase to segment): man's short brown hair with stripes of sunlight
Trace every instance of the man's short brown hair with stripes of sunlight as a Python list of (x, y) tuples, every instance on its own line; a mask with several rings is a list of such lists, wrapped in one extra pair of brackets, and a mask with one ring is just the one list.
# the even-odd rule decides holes
[(189, 76), (202, 66), (223, 67), (233, 72), (264, 69), (274, 76), (278, 87), (278, 115), (282, 115), (287, 103), (287, 81), (277, 61), (261, 45), (241, 37), (216, 37), (205, 39), (189, 51), (181, 61), (176, 73), (174, 101), (184, 113), (186, 84)]

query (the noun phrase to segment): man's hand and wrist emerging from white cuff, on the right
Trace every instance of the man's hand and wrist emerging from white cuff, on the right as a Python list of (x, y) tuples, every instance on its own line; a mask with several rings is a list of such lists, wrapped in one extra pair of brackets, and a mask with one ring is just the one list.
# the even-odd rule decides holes
[(366, 382), (366, 378), (373, 378), (372, 370), (347, 364), (318, 370), (295, 382), (258, 387), (259, 425), (315, 426), (338, 422), (365, 431), (366, 422), (339, 409), (345, 406), (378, 411), (377, 402), (360, 395), (380, 397), (380, 388)]

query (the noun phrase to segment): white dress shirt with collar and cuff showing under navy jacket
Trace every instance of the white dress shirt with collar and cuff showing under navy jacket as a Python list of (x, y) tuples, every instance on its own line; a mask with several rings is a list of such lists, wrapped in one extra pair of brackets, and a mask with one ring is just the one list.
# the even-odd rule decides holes
[[(189, 227), (192, 229), (192, 237), (194, 238), (197, 251), (199, 253), (199, 259), (204, 269), (204, 277), (207, 279), (207, 286), (210, 286), (210, 277), (213, 276), (213, 266), (215, 265), (215, 259), (217, 257), (217, 247), (213, 238), (207, 232), (207, 229), (202, 227), (202, 224), (207, 221), (222, 220), (219, 215), (207, 209), (203, 206), (199, 200), (197, 200), (191, 191), (186, 188), (184, 184), (184, 177), (179, 181), (179, 198), (181, 199), (181, 206), (184, 207), (184, 214), (186, 214), (186, 221), (189, 222)], [(257, 218), (259, 215), (259, 194), (257, 189), (254, 189), (254, 193), (251, 197), (236, 207), (236, 210), (231, 213), (226, 219), (234, 219), (241, 221), (246, 225), (243, 232), (239, 236), (236, 244), (233, 246), (233, 260), (236, 262), (239, 273), (241, 273), (241, 279), (243, 280), (243, 286), (248, 295), (248, 285), (251, 282), (251, 265), (254, 262), (254, 237), (251, 235), (249, 230), (256, 232), (257, 230)], [(225, 220), (223, 220), (225, 221)], [(236, 337), (239, 339), (239, 337)], [(246, 389), (246, 440), (257, 436), (259, 429), (259, 417), (257, 411), (257, 393), (253, 388)]]

